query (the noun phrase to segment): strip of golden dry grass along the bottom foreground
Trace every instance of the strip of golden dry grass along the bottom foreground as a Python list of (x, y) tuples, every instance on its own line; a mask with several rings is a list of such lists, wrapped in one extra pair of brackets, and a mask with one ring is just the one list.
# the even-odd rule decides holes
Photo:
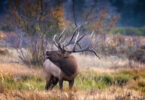
[(134, 90), (111, 87), (107, 90), (90, 91), (22, 91), (7, 90), (0, 95), (1, 100), (143, 100)]

